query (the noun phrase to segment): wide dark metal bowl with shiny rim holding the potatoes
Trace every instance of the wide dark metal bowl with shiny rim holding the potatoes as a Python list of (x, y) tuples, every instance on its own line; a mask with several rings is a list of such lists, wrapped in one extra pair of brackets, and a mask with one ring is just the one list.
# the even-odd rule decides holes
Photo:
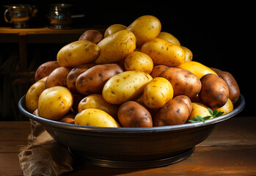
[(244, 109), (241, 95), (234, 110), (205, 122), (152, 128), (104, 128), (73, 125), (37, 117), (26, 110), (26, 95), (18, 102), (21, 113), (45, 127), (59, 144), (92, 164), (114, 168), (149, 168), (188, 158), (215, 125)]

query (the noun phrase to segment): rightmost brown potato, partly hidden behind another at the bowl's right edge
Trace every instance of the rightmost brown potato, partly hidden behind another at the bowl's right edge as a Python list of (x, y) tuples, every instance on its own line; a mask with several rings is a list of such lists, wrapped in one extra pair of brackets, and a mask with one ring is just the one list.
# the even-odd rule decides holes
[(240, 97), (240, 89), (238, 87), (238, 83), (235, 81), (235, 78), (228, 72), (224, 72), (216, 68), (211, 69), (215, 71), (218, 74), (218, 76), (227, 83), (229, 90), (229, 98), (232, 101), (232, 103), (235, 104)]

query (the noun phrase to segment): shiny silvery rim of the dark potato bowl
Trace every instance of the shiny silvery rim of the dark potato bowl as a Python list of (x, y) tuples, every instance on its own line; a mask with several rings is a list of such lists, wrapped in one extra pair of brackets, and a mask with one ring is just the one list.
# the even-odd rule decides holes
[(207, 125), (213, 125), (224, 120), (228, 120), (231, 117), (235, 116), (239, 112), (244, 109), (245, 99), (244, 96), (240, 94), (240, 102), (238, 106), (233, 109), (230, 113), (224, 114), (220, 117), (213, 118), (211, 120), (206, 120), (205, 122), (194, 122), (194, 123), (186, 123), (181, 125), (167, 125), (167, 126), (159, 126), (159, 127), (147, 127), (147, 128), (111, 128), (111, 127), (95, 127), (95, 126), (87, 126), (87, 125), (74, 125), (65, 122), (59, 122), (54, 120), (48, 120), (43, 117), (38, 117), (29, 111), (26, 111), (26, 94), (21, 97), (18, 101), (18, 109), (21, 111), (23, 115), (29, 117), (31, 120), (35, 120), (44, 126), (51, 126), (54, 128), (63, 128), (73, 131), (91, 131), (97, 133), (152, 133), (152, 132), (163, 132), (163, 131), (183, 131), (190, 128), (199, 128)]

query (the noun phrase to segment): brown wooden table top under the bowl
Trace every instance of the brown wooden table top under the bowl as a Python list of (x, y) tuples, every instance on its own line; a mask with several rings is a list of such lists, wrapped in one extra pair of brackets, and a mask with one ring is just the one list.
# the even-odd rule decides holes
[[(0, 122), (0, 175), (22, 175), (18, 150), (30, 123)], [(233, 117), (216, 125), (194, 153), (177, 164), (153, 169), (111, 169), (75, 160), (67, 175), (256, 175), (256, 117)]]

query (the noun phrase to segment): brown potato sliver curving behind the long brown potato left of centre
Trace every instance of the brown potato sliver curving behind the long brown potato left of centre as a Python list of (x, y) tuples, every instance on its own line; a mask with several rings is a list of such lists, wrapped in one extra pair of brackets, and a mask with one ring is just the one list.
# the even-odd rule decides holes
[(67, 88), (70, 89), (73, 94), (78, 94), (78, 91), (76, 89), (76, 78), (92, 66), (95, 66), (95, 63), (78, 65), (70, 70), (70, 73), (68, 73), (67, 75)]

